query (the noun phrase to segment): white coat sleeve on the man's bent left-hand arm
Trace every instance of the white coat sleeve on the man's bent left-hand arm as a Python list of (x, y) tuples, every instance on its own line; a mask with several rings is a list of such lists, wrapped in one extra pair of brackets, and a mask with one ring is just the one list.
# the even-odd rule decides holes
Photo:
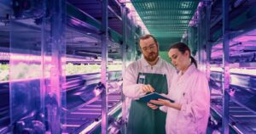
[(138, 99), (146, 93), (141, 90), (143, 84), (137, 84), (137, 72), (133, 66), (129, 66), (125, 70), (125, 75), (123, 76), (123, 93), (126, 97), (131, 99)]

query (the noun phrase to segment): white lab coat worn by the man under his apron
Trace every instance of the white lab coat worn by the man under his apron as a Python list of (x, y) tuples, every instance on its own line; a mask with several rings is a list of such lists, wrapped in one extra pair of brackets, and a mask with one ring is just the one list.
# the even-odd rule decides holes
[(177, 71), (172, 64), (167, 63), (166, 60), (161, 59), (160, 57), (157, 63), (153, 66), (148, 64), (144, 57), (131, 63), (125, 69), (125, 73), (123, 75), (123, 93), (126, 97), (123, 105), (123, 115), (125, 116), (125, 119), (128, 119), (131, 99), (137, 99), (146, 94), (140, 90), (140, 87), (142, 87), (143, 84), (137, 84), (137, 77), (139, 73), (166, 75), (168, 87), (170, 87), (173, 75), (177, 75)]

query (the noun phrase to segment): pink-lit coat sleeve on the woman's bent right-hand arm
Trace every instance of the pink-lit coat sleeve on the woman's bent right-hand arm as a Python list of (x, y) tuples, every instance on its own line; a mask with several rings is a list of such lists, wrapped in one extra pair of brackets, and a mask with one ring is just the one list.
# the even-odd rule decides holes
[(184, 116), (197, 121), (209, 114), (210, 92), (207, 77), (199, 74), (193, 87), (194, 89), (191, 92), (192, 100), (182, 104), (181, 112)]

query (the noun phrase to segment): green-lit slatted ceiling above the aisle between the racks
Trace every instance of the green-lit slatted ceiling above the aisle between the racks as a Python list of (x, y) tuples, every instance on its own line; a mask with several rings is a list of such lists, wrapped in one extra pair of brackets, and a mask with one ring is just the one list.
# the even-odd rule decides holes
[[(160, 37), (159, 42), (179, 41), (188, 29), (199, 0), (132, 0), (148, 31)], [(175, 31), (175, 32), (173, 32)]]

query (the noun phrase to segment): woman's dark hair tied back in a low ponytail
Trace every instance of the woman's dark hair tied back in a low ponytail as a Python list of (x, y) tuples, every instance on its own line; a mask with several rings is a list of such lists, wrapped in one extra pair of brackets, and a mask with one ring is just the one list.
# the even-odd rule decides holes
[(172, 49), (172, 48), (177, 48), (177, 50), (181, 53), (185, 53), (187, 50), (189, 51), (189, 55), (190, 55), (190, 59), (191, 59), (191, 63), (195, 64), (195, 67), (197, 68), (197, 63), (196, 63), (196, 60), (191, 56), (191, 51), (188, 47), (187, 44), (183, 43), (183, 42), (177, 42), (175, 44), (173, 44), (170, 48), (169, 48), (169, 51)]

